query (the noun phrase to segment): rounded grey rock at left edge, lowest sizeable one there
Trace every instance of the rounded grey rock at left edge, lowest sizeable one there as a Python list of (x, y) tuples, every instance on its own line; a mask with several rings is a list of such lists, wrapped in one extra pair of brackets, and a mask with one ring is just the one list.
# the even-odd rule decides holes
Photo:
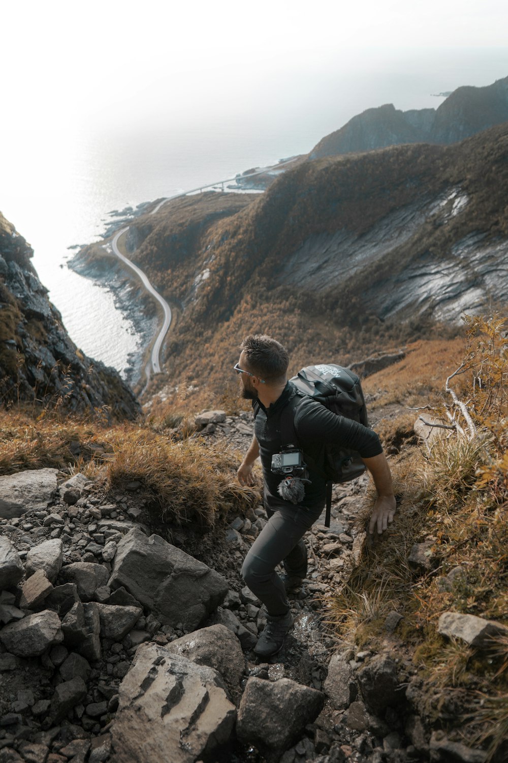
[(48, 646), (59, 644), (62, 639), (60, 619), (53, 610), (29, 615), (0, 630), (0, 640), (5, 649), (18, 657), (42, 655)]

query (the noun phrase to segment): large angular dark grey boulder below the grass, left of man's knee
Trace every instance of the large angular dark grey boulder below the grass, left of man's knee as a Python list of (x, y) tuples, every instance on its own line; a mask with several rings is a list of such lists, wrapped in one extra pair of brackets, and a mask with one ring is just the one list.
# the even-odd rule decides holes
[(123, 586), (165, 625), (196, 629), (228, 592), (222, 575), (158, 535), (133, 527), (120, 540), (108, 582)]

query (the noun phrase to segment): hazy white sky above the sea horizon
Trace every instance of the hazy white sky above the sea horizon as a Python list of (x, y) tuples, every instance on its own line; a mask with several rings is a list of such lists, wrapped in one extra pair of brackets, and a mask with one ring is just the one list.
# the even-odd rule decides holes
[(507, 29), (506, 0), (4, 2), (2, 127), (192, 120), (283, 98), (288, 77), (311, 89), (325, 69), (431, 65), (431, 49), (499, 48), (508, 62)]

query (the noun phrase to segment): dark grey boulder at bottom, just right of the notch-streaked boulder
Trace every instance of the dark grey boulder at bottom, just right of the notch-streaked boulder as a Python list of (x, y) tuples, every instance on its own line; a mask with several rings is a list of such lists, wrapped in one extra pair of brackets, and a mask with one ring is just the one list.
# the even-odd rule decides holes
[(324, 705), (324, 694), (289, 678), (247, 681), (238, 710), (238, 739), (260, 751), (283, 751), (294, 744)]

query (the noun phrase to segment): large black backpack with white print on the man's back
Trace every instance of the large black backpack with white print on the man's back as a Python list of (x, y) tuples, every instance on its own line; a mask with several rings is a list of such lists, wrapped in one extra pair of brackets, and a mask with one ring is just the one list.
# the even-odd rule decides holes
[[(295, 430), (296, 409), (308, 398), (321, 403), (332, 413), (353, 419), (369, 426), (365, 399), (359, 377), (335, 363), (307, 365), (289, 381), (296, 387), (297, 394), (290, 398), (281, 415), (281, 438), (283, 446), (290, 443), (297, 446)], [(303, 450), (303, 449), (302, 449)], [(335, 482), (347, 482), (365, 472), (365, 464), (356, 450), (338, 445), (324, 445), (324, 459), (316, 463), (304, 451), (305, 462), (327, 481), (326, 517), (324, 525), (330, 526), (331, 487)]]

